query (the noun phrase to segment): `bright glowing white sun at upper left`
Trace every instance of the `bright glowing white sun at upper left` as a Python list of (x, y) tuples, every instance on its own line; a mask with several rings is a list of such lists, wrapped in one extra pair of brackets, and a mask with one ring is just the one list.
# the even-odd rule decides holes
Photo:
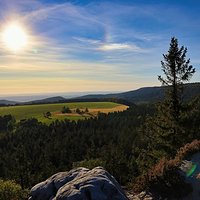
[(6, 48), (17, 52), (25, 48), (28, 42), (28, 36), (22, 25), (13, 22), (5, 27), (2, 33), (2, 40)]

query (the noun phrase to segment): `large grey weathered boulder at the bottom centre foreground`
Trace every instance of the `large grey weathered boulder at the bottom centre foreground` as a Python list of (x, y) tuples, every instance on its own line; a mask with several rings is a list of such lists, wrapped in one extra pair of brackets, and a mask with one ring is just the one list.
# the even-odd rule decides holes
[(29, 200), (127, 200), (115, 178), (101, 167), (57, 173), (31, 189)]

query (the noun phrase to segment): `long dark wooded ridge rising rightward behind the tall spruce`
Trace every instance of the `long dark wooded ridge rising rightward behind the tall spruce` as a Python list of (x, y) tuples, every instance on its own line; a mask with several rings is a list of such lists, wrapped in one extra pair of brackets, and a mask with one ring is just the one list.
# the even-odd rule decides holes
[[(164, 98), (166, 87), (144, 87), (133, 91), (116, 93), (116, 94), (96, 94), (85, 95), (76, 99), (122, 99), (131, 103), (153, 103), (161, 101)], [(189, 83), (184, 85), (185, 101), (200, 96), (200, 83)]]

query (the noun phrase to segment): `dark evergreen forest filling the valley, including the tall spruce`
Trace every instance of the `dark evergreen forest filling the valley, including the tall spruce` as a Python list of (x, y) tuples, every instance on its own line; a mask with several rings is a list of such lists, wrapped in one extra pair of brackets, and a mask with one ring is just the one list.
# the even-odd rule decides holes
[[(103, 166), (121, 185), (136, 191), (149, 189), (164, 196), (170, 191), (175, 197), (189, 192), (177, 166), (164, 167), (181, 147), (200, 139), (200, 98), (182, 98), (184, 83), (195, 73), (186, 53), (172, 38), (161, 62), (163, 76), (158, 77), (166, 86), (163, 101), (49, 125), (34, 118), (16, 122), (11, 115), (1, 116), (0, 188), (19, 187), (18, 199), (26, 199), (28, 189), (56, 172)], [(149, 178), (149, 170), (155, 173), (158, 164), (165, 173)]]

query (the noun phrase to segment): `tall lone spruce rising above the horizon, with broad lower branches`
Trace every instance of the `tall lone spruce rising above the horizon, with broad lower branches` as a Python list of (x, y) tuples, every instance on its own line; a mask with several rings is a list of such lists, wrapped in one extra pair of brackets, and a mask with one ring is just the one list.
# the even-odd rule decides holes
[(184, 83), (187, 83), (195, 69), (186, 59), (187, 48), (179, 47), (176, 38), (171, 39), (169, 50), (161, 61), (163, 76), (158, 76), (165, 90), (165, 98), (157, 105), (157, 113), (149, 117), (145, 130), (148, 138), (147, 149), (155, 160), (174, 155), (187, 141), (184, 125), (189, 109), (183, 101)]

